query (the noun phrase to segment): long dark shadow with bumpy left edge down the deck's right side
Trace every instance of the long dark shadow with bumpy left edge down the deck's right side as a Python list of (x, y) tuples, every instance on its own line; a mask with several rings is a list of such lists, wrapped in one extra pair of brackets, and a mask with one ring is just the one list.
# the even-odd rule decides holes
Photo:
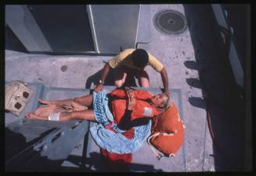
[(196, 57), (196, 62), (184, 65), (197, 69), (200, 75), (200, 83), (193, 79), (187, 83), (202, 89), (206, 106), (202, 107), (203, 100), (197, 97), (190, 97), (189, 102), (207, 108), (210, 113), (220, 149), (214, 144), (215, 171), (243, 171), (245, 104), (229, 64), (228, 46), (222, 42), (211, 5), (184, 5), (184, 8)]

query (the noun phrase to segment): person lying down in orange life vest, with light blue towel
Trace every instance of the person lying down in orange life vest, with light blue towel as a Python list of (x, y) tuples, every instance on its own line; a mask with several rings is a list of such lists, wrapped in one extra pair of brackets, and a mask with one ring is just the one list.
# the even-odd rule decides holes
[[(170, 106), (167, 94), (151, 95), (146, 90), (115, 89), (93, 92), (83, 97), (68, 100), (38, 100), (45, 107), (55, 108), (49, 113), (40, 111), (26, 114), (26, 118), (48, 121), (82, 119), (96, 121), (90, 128), (97, 145), (112, 153), (134, 153), (150, 136), (150, 118), (156, 118)], [(68, 108), (67, 108), (68, 107)], [(47, 110), (47, 108), (45, 110)], [(124, 132), (133, 130), (132, 139)]]

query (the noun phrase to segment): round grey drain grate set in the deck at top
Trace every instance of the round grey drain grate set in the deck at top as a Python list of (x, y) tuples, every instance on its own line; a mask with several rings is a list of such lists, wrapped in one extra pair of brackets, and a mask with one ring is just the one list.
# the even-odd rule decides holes
[(187, 28), (185, 16), (170, 9), (157, 12), (153, 22), (157, 30), (168, 35), (178, 35)]

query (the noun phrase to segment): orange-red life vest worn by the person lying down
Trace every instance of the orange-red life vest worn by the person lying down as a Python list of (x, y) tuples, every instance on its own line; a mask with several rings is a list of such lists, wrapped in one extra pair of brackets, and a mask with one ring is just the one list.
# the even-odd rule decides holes
[[(136, 118), (153, 118), (154, 116), (160, 114), (160, 111), (157, 111), (157, 108), (150, 104), (152, 95), (145, 90), (133, 90), (135, 97), (135, 106), (132, 108), (131, 121)], [(111, 92), (112, 97), (117, 99), (112, 100), (112, 108), (114, 120), (117, 122), (117, 125), (121, 121), (121, 118), (124, 116), (124, 113), (127, 108), (127, 95), (125, 90), (116, 89)]]

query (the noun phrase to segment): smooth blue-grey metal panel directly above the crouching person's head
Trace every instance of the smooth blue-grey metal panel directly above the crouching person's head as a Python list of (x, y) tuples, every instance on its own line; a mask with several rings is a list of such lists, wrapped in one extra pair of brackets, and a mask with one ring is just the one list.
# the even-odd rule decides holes
[(90, 5), (99, 53), (135, 48), (140, 5)]

